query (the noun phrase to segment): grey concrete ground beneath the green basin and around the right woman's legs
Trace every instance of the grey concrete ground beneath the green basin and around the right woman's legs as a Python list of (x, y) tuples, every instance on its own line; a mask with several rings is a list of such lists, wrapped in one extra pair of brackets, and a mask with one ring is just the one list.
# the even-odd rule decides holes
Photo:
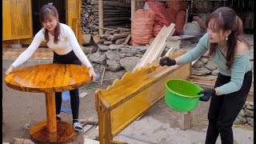
[[(166, 106), (162, 99), (114, 139), (133, 144), (202, 144), (208, 126), (206, 120), (208, 106), (209, 102), (199, 102), (198, 107), (192, 111), (192, 128), (182, 130), (177, 125), (178, 112)], [(254, 130), (238, 127), (233, 128), (233, 133), (234, 140), (239, 144), (254, 143)], [(217, 143), (221, 143), (220, 138)]]

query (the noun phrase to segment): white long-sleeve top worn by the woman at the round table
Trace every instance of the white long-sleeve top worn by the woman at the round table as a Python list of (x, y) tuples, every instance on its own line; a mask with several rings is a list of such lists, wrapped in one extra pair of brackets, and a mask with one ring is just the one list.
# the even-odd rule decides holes
[[(84, 64), (86, 67), (90, 67), (91, 64), (88, 58), (86, 57), (86, 54), (83, 53), (81, 47), (79, 46), (78, 40), (75, 37), (73, 30), (70, 28), (70, 26), (67, 26), (66, 24), (59, 24), (60, 34), (58, 37), (58, 43), (55, 44), (54, 36), (48, 33), (49, 42), (47, 42), (47, 46), (59, 55), (68, 54), (71, 50), (73, 50), (74, 54), (78, 57), (82, 64)], [(32, 54), (34, 54), (34, 51), (38, 49), (38, 46), (40, 46), (41, 42), (46, 42), (46, 39), (44, 37), (45, 30), (45, 28), (42, 28), (42, 30), (38, 31), (38, 34), (35, 34), (30, 46), (25, 51), (23, 51), (22, 54), (19, 55), (18, 58), (12, 64), (14, 67), (17, 67), (21, 65), (23, 62), (26, 62), (26, 60), (29, 59), (32, 56)]]

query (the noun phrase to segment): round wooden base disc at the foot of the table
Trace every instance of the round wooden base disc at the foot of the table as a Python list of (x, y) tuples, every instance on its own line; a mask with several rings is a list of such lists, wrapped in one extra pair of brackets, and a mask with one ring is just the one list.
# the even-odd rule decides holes
[(74, 140), (74, 127), (67, 122), (57, 122), (57, 131), (49, 132), (47, 122), (39, 122), (30, 129), (30, 138), (35, 143), (69, 143)]

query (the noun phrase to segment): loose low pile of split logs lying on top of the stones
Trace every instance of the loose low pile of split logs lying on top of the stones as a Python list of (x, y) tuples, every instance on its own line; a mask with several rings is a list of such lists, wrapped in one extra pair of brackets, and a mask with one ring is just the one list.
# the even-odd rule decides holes
[(105, 34), (94, 35), (93, 39), (94, 42), (98, 44), (102, 43), (105, 45), (110, 45), (115, 43), (117, 45), (127, 45), (130, 41), (130, 29), (118, 27), (115, 30), (106, 30)]

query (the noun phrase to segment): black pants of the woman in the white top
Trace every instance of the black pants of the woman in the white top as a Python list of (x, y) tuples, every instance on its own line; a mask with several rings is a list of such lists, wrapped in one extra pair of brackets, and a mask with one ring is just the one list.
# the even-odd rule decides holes
[[(70, 51), (69, 54), (58, 55), (54, 52), (54, 62), (58, 64), (76, 64), (82, 66), (82, 62), (74, 54), (74, 51)], [(56, 114), (61, 113), (62, 107), (62, 92), (55, 93), (55, 103), (56, 103)], [(79, 90), (70, 90), (70, 104), (72, 110), (73, 119), (78, 119), (79, 114)]]

